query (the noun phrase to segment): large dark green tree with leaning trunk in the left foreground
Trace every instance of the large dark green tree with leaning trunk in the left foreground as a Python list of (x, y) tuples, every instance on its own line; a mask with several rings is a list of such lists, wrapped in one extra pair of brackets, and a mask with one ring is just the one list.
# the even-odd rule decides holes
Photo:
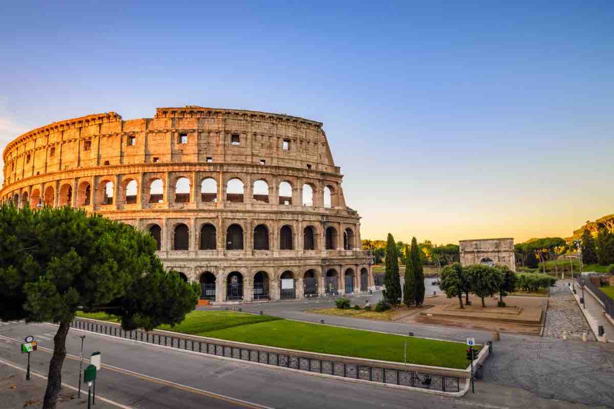
[(198, 302), (198, 285), (164, 271), (155, 240), (84, 210), (0, 207), (0, 318), (59, 324), (44, 409), (55, 407), (66, 335), (77, 313), (104, 310), (123, 329), (174, 325)]

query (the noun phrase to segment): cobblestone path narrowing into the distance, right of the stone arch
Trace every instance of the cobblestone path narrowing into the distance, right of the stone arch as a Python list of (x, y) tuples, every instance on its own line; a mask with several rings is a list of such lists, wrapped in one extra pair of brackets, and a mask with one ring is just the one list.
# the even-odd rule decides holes
[(593, 331), (580, 311), (580, 307), (569, 290), (570, 281), (557, 281), (556, 287), (550, 288), (550, 301), (546, 313), (546, 326), (543, 336), (547, 338), (562, 338), (567, 331), (569, 338), (580, 339), (586, 332), (589, 340), (595, 340)]

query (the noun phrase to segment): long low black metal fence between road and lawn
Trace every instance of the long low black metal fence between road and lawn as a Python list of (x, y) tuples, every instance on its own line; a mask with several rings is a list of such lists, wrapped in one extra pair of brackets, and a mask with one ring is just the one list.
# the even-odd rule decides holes
[(412, 370), (348, 364), (346, 362), (317, 359), (309, 356), (300, 356), (298, 354), (284, 354), (254, 348), (241, 348), (239, 346), (192, 340), (189, 338), (176, 337), (174, 335), (160, 334), (158, 332), (147, 332), (140, 329), (124, 331), (122, 327), (114, 324), (96, 323), (81, 319), (72, 321), (71, 327), (84, 331), (96, 332), (98, 334), (170, 346), (180, 350), (198, 351), (203, 354), (224, 356), (239, 359), (241, 361), (260, 362), (261, 364), (287, 367), (305, 372), (325, 373), (336, 377), (413, 386), (414, 388), (435, 389), (443, 392), (461, 391), (461, 380), (458, 377), (444, 377)]

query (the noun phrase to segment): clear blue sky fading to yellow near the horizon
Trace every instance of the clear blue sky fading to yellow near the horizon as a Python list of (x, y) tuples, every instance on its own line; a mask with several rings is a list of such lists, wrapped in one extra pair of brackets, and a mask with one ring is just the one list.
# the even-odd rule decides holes
[(9, 2), (0, 147), (90, 113), (324, 123), (363, 239), (569, 237), (614, 213), (614, 2)]

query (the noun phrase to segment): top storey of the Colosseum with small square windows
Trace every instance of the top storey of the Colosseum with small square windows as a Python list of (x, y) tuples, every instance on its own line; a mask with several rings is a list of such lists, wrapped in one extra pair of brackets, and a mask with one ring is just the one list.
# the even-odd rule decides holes
[(42, 126), (7, 145), (4, 183), (85, 167), (225, 162), (340, 174), (322, 123), (289, 115), (196, 106), (122, 120), (99, 113)]

